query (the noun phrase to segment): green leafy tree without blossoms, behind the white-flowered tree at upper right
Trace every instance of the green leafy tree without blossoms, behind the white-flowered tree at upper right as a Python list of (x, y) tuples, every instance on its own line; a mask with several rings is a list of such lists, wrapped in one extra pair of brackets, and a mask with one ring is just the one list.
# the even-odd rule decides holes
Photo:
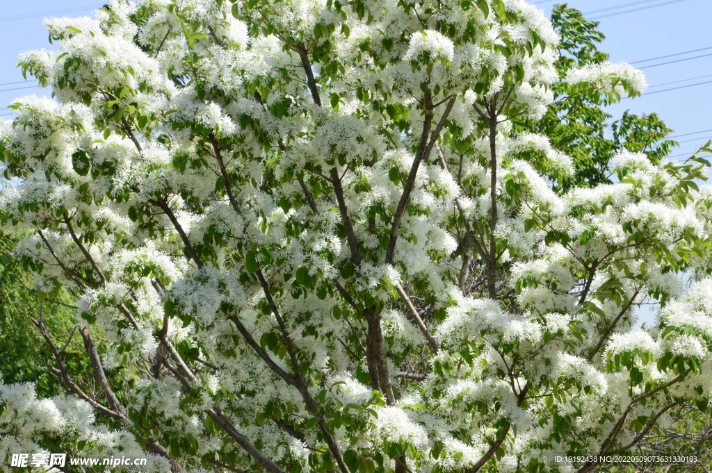
[[(599, 51), (604, 34), (597, 21), (587, 21), (577, 9), (567, 4), (555, 5), (551, 21), (561, 42), (556, 68), (561, 80), (553, 85), (554, 102), (538, 122), (516, 121), (521, 130), (547, 136), (552, 147), (571, 156), (575, 173), (554, 183), (565, 192), (576, 186), (595, 187), (611, 182), (611, 160), (622, 150), (644, 152), (654, 164), (677, 146), (666, 137), (674, 130), (666, 127), (656, 113), (634, 115), (624, 112), (611, 121), (612, 115), (602, 107), (612, 100), (586, 94), (569, 94), (566, 74), (585, 65), (600, 64), (608, 54)], [(617, 97), (617, 102), (620, 97)]]

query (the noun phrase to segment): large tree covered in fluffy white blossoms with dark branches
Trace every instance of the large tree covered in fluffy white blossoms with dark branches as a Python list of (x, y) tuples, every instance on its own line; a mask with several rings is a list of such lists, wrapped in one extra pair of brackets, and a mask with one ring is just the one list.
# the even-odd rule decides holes
[[(35, 319), (73, 397), (1, 385), (0, 460), (587, 472), (547, 453), (706, 407), (709, 164), (622, 152), (615, 184), (553, 191), (570, 158), (511, 122), (560, 80), (534, 6), (113, 0), (47, 24), (61, 51), (21, 66), (58, 103), (13, 105), (2, 206), (36, 291), (74, 295), (94, 384)], [(607, 63), (562, 82), (645, 87)], [(632, 331), (649, 296), (659, 326)]]

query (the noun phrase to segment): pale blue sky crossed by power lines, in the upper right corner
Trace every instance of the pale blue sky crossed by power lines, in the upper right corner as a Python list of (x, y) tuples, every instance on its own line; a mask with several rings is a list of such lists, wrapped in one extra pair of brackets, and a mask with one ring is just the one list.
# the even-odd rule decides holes
[[(538, 0), (535, 0), (538, 1)], [(551, 6), (560, 1), (538, 3), (547, 14)], [(635, 100), (623, 100), (609, 108), (614, 116), (625, 110), (636, 114), (656, 112), (679, 137), (680, 147), (672, 156), (684, 159), (679, 154), (691, 153), (712, 137), (712, 38), (708, 34), (709, 18), (712, 18), (710, 0), (570, 0), (569, 6), (579, 9), (587, 18), (600, 21), (600, 29), (606, 35), (601, 50), (611, 55), (612, 62), (625, 61), (637, 68), (644, 68), (648, 83), (647, 94)], [(626, 6), (627, 5), (627, 6)], [(622, 12), (629, 13), (622, 13)], [(610, 16), (609, 16), (610, 15)], [(684, 51), (710, 48), (684, 55), (659, 58)], [(676, 63), (658, 65), (669, 61)], [(647, 67), (656, 65), (655, 67)], [(656, 92), (656, 93), (650, 93)]]

